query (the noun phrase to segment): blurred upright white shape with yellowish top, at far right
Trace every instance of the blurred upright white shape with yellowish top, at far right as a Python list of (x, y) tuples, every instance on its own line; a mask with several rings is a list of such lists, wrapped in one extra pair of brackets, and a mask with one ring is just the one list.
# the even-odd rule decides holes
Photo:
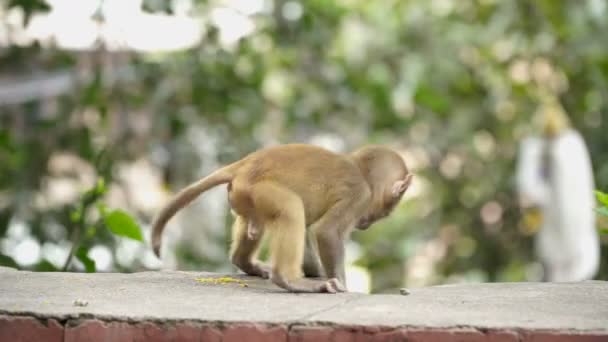
[(543, 137), (520, 145), (517, 188), (524, 208), (542, 214), (535, 248), (544, 279), (592, 279), (599, 267), (591, 160), (581, 135), (568, 127), (561, 108), (545, 109)]

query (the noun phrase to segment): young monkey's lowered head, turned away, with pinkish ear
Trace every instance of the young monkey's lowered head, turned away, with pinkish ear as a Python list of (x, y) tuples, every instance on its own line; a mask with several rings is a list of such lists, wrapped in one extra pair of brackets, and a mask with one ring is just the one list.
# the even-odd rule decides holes
[(351, 156), (371, 189), (368, 211), (355, 226), (364, 230), (395, 209), (412, 182), (412, 174), (403, 158), (386, 147), (367, 146)]

